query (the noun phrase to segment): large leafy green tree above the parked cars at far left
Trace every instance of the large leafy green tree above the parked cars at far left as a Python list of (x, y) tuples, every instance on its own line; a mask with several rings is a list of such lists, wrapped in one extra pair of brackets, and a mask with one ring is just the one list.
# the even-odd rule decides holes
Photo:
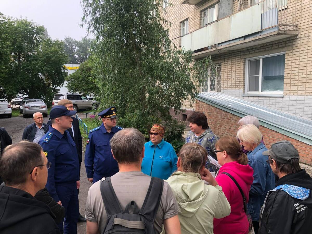
[(0, 51), (6, 55), (0, 62), (1, 97), (11, 100), (22, 93), (51, 104), (56, 87), (65, 80), (62, 42), (51, 40), (46, 29), (32, 21), (3, 16), (0, 21)]

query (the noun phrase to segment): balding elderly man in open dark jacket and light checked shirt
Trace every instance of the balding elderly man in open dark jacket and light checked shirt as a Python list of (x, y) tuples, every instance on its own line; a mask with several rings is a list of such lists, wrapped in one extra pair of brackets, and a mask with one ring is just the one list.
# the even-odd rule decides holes
[(46, 124), (43, 123), (43, 116), (40, 112), (36, 112), (33, 117), (35, 123), (29, 124), (24, 129), (22, 139), (38, 143), (39, 140), (44, 136)]

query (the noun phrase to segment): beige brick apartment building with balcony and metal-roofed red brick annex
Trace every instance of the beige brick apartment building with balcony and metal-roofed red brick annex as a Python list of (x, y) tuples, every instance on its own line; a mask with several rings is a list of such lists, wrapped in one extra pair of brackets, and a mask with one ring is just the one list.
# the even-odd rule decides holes
[(288, 139), (311, 164), (312, 1), (164, 0), (163, 7), (175, 45), (195, 60), (212, 58), (196, 110), (214, 132), (235, 135), (237, 121), (255, 115), (267, 147)]

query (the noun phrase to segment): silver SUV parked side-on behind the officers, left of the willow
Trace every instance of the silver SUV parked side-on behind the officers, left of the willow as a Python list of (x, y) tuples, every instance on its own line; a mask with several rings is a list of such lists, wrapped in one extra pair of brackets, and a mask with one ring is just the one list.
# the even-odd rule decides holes
[(97, 102), (96, 100), (88, 100), (86, 97), (81, 96), (80, 94), (72, 94), (72, 93), (55, 94), (52, 100), (52, 106), (57, 105), (58, 102), (62, 99), (71, 100), (71, 102), (74, 105), (74, 109), (76, 111), (79, 109), (97, 110), (99, 108), (99, 102)]

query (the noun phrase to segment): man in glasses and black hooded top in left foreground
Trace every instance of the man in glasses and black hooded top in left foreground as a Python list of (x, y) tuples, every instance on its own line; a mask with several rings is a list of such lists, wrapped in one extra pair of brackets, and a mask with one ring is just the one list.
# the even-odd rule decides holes
[(24, 141), (6, 148), (0, 160), (0, 233), (58, 234), (50, 208), (35, 195), (47, 182), (48, 162), (40, 145)]

